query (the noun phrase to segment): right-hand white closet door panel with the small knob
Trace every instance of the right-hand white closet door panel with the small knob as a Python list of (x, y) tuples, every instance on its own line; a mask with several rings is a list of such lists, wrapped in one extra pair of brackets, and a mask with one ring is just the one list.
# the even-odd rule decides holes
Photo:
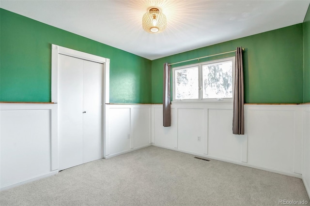
[(83, 68), (83, 162), (102, 158), (103, 64), (84, 60)]

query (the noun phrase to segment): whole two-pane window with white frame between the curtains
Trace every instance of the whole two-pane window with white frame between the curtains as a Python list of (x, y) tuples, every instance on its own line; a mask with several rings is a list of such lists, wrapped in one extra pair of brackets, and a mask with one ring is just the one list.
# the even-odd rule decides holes
[(233, 100), (234, 59), (173, 68), (173, 101)]

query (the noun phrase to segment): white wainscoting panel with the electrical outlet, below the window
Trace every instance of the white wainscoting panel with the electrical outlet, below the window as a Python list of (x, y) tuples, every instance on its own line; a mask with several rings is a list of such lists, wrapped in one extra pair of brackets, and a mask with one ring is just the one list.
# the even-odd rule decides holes
[(204, 109), (178, 108), (178, 148), (183, 151), (203, 154), (206, 139), (203, 128)]

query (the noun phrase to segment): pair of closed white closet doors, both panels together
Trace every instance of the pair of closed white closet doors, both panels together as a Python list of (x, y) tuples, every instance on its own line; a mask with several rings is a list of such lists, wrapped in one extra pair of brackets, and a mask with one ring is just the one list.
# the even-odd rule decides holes
[(59, 170), (102, 158), (103, 64), (60, 55)]

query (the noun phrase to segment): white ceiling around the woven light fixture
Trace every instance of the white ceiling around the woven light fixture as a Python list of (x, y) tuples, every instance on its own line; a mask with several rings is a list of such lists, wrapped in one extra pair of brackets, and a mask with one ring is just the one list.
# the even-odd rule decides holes
[[(146, 59), (301, 23), (310, 0), (0, 0), (0, 7)], [(167, 29), (142, 29), (157, 6)]]

